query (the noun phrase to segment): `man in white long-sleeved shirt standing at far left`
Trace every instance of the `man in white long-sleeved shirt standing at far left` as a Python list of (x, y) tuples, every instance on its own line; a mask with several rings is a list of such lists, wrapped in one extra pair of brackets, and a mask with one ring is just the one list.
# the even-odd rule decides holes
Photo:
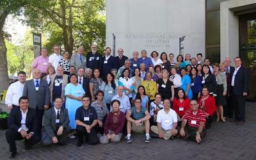
[(19, 98), (23, 94), (24, 84), (26, 82), (26, 72), (20, 71), (18, 73), (19, 81), (12, 83), (5, 97), (5, 104), (8, 106), (8, 109), (13, 109), (13, 107), (19, 106)]

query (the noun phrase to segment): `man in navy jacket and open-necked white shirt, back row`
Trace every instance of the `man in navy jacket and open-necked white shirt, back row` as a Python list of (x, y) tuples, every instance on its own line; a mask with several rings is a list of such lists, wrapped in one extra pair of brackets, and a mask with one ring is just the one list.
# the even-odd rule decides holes
[(106, 80), (106, 77), (108, 76), (108, 72), (110, 72), (110, 70), (113, 68), (116, 68), (116, 61), (115, 61), (115, 58), (111, 56), (111, 48), (106, 47), (105, 56), (102, 58), (102, 63), (101, 63), (102, 79)]

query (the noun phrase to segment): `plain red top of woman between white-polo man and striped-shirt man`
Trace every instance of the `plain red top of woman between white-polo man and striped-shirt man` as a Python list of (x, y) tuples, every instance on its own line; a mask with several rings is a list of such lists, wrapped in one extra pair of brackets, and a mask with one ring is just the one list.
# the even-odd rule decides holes
[(173, 100), (172, 109), (182, 118), (185, 112), (190, 109), (189, 98), (186, 97), (182, 103), (180, 103), (179, 99), (175, 98)]

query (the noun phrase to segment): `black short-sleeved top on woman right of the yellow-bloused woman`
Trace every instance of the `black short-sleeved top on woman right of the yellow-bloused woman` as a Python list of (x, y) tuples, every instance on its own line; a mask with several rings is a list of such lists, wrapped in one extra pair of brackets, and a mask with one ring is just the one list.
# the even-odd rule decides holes
[(158, 93), (161, 94), (162, 99), (171, 99), (172, 97), (171, 86), (173, 86), (172, 81), (168, 79), (167, 82), (164, 83), (163, 79), (158, 79), (157, 84), (159, 84)]

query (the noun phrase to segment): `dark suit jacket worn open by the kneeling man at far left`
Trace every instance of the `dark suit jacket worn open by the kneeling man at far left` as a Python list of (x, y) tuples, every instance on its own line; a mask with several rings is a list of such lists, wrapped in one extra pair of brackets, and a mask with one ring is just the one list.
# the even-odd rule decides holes
[[(22, 119), (20, 107), (13, 108), (10, 116), (8, 118), (8, 128), (14, 131), (20, 129), (21, 124), (20, 121)], [(28, 132), (36, 132), (37, 129), (37, 119), (36, 119), (36, 111), (33, 108), (28, 108), (28, 113), (26, 116), (26, 127), (28, 127)]]

